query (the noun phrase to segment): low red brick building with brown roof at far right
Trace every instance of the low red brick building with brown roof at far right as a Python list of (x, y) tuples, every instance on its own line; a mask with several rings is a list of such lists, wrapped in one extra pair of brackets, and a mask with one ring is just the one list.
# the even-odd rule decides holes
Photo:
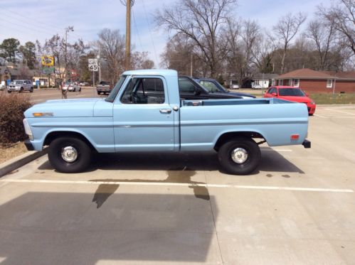
[(275, 85), (301, 87), (307, 93), (355, 93), (355, 72), (298, 69), (275, 77)]

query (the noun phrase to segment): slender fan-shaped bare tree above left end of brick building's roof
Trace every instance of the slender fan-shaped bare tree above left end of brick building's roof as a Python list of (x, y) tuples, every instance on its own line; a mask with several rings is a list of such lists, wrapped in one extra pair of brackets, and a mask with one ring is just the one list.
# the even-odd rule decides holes
[(291, 40), (296, 36), (300, 30), (300, 26), (306, 20), (306, 16), (302, 13), (292, 15), (287, 13), (286, 16), (282, 16), (279, 19), (276, 26), (272, 27), (276, 36), (280, 39), (282, 45), (282, 59), (281, 59), (281, 73), (285, 71), (285, 58), (287, 54), (287, 48), (289, 48)]

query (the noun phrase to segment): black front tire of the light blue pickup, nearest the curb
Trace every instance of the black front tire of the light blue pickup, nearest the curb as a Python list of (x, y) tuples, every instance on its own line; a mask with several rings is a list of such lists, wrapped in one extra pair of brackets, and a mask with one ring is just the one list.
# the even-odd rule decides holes
[[(65, 161), (62, 153), (65, 148), (75, 148), (77, 157), (73, 161)], [(70, 149), (72, 150), (72, 149)], [(49, 162), (61, 173), (78, 173), (88, 168), (92, 150), (85, 141), (75, 137), (60, 137), (54, 139), (48, 148)]]

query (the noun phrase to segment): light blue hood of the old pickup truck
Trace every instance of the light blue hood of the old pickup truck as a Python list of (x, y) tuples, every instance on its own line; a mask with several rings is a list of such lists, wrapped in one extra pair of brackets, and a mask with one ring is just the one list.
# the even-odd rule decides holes
[(27, 109), (24, 114), (26, 118), (33, 118), (35, 112), (51, 113), (53, 117), (93, 117), (95, 104), (102, 100), (100, 98), (48, 100)]

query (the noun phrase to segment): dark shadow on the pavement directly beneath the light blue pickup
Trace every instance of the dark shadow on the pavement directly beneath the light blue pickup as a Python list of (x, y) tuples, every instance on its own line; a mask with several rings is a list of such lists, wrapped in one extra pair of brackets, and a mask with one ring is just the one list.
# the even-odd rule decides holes
[[(260, 166), (253, 174), (259, 171), (302, 173), (300, 168), (288, 161), (277, 151), (270, 147), (263, 147)], [(194, 153), (95, 153), (87, 172), (100, 170), (139, 170), (139, 171), (181, 171), (189, 168), (191, 171), (220, 171), (223, 170), (218, 163), (216, 152)], [(53, 169), (47, 161), (38, 169)]]

